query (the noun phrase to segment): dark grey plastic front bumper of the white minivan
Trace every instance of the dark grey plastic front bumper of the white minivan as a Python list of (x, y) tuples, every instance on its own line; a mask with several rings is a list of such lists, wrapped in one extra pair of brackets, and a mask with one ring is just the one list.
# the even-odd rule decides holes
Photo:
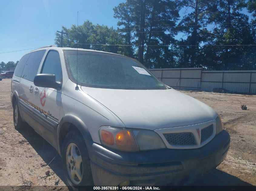
[(122, 152), (87, 143), (91, 171), (96, 186), (184, 185), (216, 168), (226, 157), (230, 144), (223, 130), (197, 149), (158, 149)]

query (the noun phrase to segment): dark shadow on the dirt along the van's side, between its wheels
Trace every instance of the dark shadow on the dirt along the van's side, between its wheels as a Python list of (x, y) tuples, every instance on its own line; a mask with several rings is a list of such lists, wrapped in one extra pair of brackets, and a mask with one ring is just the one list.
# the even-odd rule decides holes
[(56, 149), (42, 138), (29, 125), (18, 132), (28, 141), (28, 143), (35, 149), (45, 163), (41, 166), (49, 166), (53, 172), (66, 184), (64, 173), (62, 170), (61, 157), (58, 155)]

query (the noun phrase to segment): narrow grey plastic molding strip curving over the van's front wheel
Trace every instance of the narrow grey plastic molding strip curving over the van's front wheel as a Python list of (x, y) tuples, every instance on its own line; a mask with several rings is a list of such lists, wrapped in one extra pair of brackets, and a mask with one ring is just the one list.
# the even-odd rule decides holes
[(65, 115), (59, 125), (58, 125), (58, 128), (57, 128), (57, 147), (58, 147), (58, 153), (61, 155), (61, 145), (60, 145), (60, 133), (61, 133), (61, 127), (64, 123), (72, 123), (73, 125), (75, 125), (78, 130), (81, 132), (81, 134), (83, 135), (84, 139), (86, 142), (92, 142), (92, 138), (91, 138), (91, 134), (90, 132), (88, 131), (88, 128), (87, 126), (85, 125), (84, 122), (82, 122), (81, 119), (79, 119), (77, 116), (74, 116), (74, 115), (71, 115), (71, 114), (68, 114), (68, 115)]

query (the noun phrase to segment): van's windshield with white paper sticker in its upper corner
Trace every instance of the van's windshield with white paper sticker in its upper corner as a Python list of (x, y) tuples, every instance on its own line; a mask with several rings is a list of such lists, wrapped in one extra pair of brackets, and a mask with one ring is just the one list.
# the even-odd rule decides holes
[(78, 84), (81, 86), (135, 90), (167, 89), (142, 64), (125, 56), (65, 50), (65, 57), (71, 80), (76, 82), (78, 74)]

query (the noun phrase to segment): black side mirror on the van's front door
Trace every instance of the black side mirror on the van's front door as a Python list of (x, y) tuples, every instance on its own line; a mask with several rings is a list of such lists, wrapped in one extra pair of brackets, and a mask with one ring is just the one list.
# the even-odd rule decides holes
[(54, 74), (37, 74), (34, 78), (34, 84), (44, 88), (54, 88), (61, 90), (62, 83), (56, 81)]

